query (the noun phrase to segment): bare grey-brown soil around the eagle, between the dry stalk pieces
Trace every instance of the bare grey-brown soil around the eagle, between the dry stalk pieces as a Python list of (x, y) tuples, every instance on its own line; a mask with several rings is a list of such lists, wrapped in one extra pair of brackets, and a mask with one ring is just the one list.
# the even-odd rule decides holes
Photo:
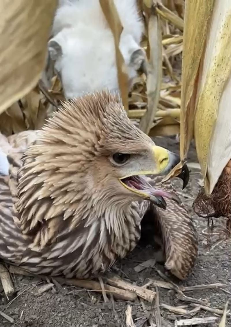
[[(178, 152), (179, 144), (175, 138), (156, 138), (156, 143)], [(188, 161), (197, 162), (195, 150), (191, 147)], [(176, 280), (165, 271), (164, 267), (156, 264), (154, 268), (146, 268), (140, 273), (134, 271), (138, 263), (153, 257), (154, 249), (137, 247), (128, 257), (116, 263), (116, 273), (124, 279), (137, 285), (144, 285), (149, 278), (164, 281), (156, 269), (164, 272), (177, 285), (194, 286), (199, 284), (223, 283), (220, 288), (208, 290), (194, 290), (185, 292), (185, 295), (198, 300), (204, 300), (206, 305), (216, 309), (224, 309), (228, 301), (230, 310), (230, 242), (219, 233), (219, 226), (224, 223), (222, 218), (214, 219), (215, 233), (208, 237), (207, 220), (197, 217), (192, 211), (192, 201), (197, 195), (200, 184), (200, 173), (191, 167), (191, 178), (185, 190), (181, 189), (181, 181), (176, 179), (174, 185), (179, 195), (193, 217), (199, 234), (199, 254), (192, 274), (185, 282)], [(210, 238), (210, 240), (208, 239)], [(155, 326), (155, 305), (137, 299), (135, 302), (116, 301), (110, 299), (104, 303), (100, 294), (73, 286), (53, 288), (37, 295), (38, 287), (46, 281), (34, 277), (12, 276), (17, 289), (13, 301), (6, 302), (0, 288), (0, 313), (7, 314), (14, 322), (9, 322), (0, 315), (0, 326), (126, 326), (125, 311), (127, 305), (132, 307), (132, 318), (135, 326)], [(154, 289), (155, 290), (155, 289)], [(158, 287), (160, 304), (172, 306), (187, 305), (187, 310), (195, 308), (192, 302), (177, 299), (174, 290)], [(162, 326), (174, 326), (175, 320), (192, 318), (191, 316), (177, 315), (160, 305)], [(221, 316), (200, 309), (193, 317), (217, 317), (216, 322), (204, 326), (218, 326)], [(153, 323), (153, 322), (154, 323)], [(226, 326), (230, 326), (230, 317)]]

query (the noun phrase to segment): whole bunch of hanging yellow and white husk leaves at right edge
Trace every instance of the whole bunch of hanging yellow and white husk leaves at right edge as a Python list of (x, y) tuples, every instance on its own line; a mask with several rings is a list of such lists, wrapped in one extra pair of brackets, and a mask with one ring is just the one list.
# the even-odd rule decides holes
[(186, 0), (180, 155), (187, 156), (194, 134), (209, 194), (231, 152), (230, 19), (229, 0)]

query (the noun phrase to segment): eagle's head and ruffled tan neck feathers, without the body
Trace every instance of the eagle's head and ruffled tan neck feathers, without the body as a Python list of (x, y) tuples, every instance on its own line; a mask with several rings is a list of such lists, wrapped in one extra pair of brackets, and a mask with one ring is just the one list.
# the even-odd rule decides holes
[(64, 102), (22, 158), (16, 205), (22, 229), (37, 231), (52, 218), (47, 234), (59, 220), (74, 228), (89, 215), (144, 199), (165, 208), (164, 197), (174, 196), (151, 186), (146, 175), (167, 174), (178, 162), (129, 120), (118, 94)]

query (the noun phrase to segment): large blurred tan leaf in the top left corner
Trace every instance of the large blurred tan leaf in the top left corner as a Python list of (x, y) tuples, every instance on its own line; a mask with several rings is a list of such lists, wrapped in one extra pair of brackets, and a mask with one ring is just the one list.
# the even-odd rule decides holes
[(0, 112), (26, 95), (45, 65), (56, 0), (2, 0)]

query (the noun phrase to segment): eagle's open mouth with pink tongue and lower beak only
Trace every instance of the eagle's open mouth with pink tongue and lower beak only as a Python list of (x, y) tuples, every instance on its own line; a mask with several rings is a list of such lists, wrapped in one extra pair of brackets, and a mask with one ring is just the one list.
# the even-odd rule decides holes
[(120, 179), (120, 182), (130, 191), (140, 194), (142, 197), (149, 199), (159, 207), (166, 209), (166, 202), (164, 198), (169, 198), (173, 201), (179, 202), (175, 194), (165, 191), (163, 189), (154, 188), (146, 176), (135, 175)]

